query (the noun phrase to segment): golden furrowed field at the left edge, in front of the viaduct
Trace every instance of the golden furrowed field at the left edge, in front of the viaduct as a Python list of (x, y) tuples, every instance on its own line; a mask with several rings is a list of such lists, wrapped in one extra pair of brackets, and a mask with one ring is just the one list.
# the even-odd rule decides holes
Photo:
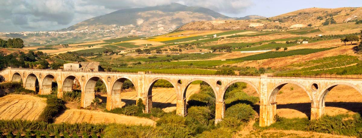
[(46, 98), (10, 94), (0, 98), (0, 119), (37, 120), (46, 106)]

